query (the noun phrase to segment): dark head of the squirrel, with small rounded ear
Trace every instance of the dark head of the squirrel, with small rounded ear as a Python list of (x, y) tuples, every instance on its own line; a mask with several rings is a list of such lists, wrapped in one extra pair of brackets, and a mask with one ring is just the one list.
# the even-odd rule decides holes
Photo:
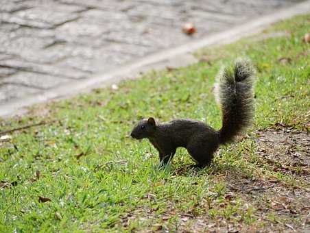
[(130, 136), (135, 139), (149, 138), (154, 135), (156, 130), (156, 122), (153, 117), (142, 119), (134, 126)]

